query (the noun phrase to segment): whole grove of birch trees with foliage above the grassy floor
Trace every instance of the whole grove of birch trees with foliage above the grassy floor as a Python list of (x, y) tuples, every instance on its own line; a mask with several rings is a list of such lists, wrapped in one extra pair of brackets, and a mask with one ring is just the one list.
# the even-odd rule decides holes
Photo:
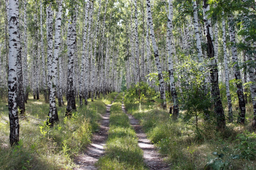
[(112, 92), (168, 108), (172, 121), (190, 114), (217, 130), (256, 129), (253, 0), (0, 2), (0, 98), (8, 98), (11, 145), (31, 103), (48, 103), (46, 125), (54, 126)]

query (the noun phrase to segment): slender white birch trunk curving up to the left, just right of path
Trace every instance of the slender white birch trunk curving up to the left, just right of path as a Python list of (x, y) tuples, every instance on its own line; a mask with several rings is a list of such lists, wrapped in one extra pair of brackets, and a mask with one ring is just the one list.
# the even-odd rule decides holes
[(162, 68), (160, 65), (160, 58), (159, 58), (159, 51), (158, 47), (156, 45), (156, 39), (155, 39), (155, 32), (153, 28), (153, 20), (152, 20), (152, 14), (151, 14), (151, 7), (150, 7), (150, 0), (147, 0), (147, 13), (148, 13), (148, 23), (149, 23), (149, 28), (150, 28), (150, 34), (151, 34), (151, 40), (152, 40), (152, 45), (154, 49), (154, 56), (156, 60), (156, 67), (157, 67), (157, 72), (158, 72), (158, 79), (159, 79), (159, 84), (160, 84), (160, 99), (161, 101), (161, 106), (166, 109), (166, 97), (165, 97), (165, 89), (164, 89), (164, 77), (162, 73)]

